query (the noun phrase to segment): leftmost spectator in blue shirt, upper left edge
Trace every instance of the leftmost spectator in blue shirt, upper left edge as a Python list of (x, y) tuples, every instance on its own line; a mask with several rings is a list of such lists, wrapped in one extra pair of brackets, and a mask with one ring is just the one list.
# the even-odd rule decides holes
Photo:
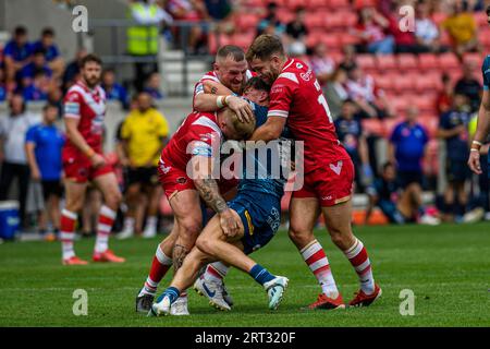
[(32, 45), (27, 41), (27, 29), (24, 26), (15, 27), (13, 39), (7, 43), (3, 50), (8, 91), (13, 91), (16, 75), (30, 61), (32, 53)]

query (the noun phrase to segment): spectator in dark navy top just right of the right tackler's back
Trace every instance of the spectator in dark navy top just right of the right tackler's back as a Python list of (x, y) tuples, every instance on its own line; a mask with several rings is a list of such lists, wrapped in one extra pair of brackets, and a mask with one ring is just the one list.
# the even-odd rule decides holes
[(360, 192), (372, 181), (372, 170), (369, 165), (369, 152), (366, 142), (366, 135), (363, 132), (360, 118), (356, 115), (356, 104), (347, 99), (342, 106), (342, 112), (335, 120), (335, 130), (339, 141), (347, 151), (354, 164), (356, 173), (356, 183)]

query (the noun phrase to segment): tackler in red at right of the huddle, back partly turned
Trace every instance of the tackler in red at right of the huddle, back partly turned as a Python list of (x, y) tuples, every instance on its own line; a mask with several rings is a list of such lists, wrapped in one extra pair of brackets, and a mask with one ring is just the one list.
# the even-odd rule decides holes
[(304, 142), (304, 185), (293, 192), (290, 204), (290, 238), (322, 288), (310, 309), (345, 308), (328, 258), (313, 229), (320, 212), (330, 237), (355, 268), (360, 290), (348, 303), (366, 306), (381, 296), (375, 284), (366, 249), (352, 231), (354, 166), (336, 139), (330, 110), (311, 69), (284, 55), (281, 40), (260, 35), (246, 58), (259, 77), (272, 84), (268, 121), (252, 141), (271, 141), (287, 124), (296, 141)]

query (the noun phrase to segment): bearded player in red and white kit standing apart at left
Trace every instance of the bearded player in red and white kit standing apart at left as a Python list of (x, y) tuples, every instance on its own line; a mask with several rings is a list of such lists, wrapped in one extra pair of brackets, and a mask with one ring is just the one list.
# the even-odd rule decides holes
[(85, 201), (87, 182), (93, 181), (102, 192), (105, 205), (100, 208), (94, 262), (122, 263), (124, 258), (109, 250), (108, 241), (121, 192), (112, 168), (102, 155), (102, 128), (106, 95), (99, 86), (101, 60), (94, 55), (81, 62), (82, 77), (70, 87), (64, 97), (64, 124), (68, 141), (63, 147), (65, 207), (61, 214), (63, 264), (83, 265), (86, 261), (75, 255), (73, 240), (77, 212)]

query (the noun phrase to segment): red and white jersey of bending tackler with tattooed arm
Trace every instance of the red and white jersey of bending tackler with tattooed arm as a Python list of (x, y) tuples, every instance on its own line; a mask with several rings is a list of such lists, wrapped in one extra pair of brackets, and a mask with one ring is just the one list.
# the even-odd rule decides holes
[(160, 169), (163, 173), (170, 167), (185, 171), (187, 163), (195, 155), (218, 157), (222, 141), (217, 116), (194, 111), (185, 118), (161, 152)]

